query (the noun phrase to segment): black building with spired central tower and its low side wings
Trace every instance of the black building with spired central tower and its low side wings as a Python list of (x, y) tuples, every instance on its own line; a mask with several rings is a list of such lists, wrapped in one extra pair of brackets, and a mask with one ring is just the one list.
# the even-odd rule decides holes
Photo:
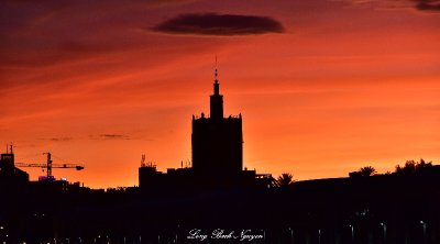
[(271, 175), (243, 170), (243, 130), (241, 113), (223, 117), (218, 70), (210, 96), (210, 117), (193, 115), (191, 167), (168, 168), (166, 174), (144, 158), (139, 168), (139, 186), (143, 191), (200, 190), (221, 188), (267, 188)]

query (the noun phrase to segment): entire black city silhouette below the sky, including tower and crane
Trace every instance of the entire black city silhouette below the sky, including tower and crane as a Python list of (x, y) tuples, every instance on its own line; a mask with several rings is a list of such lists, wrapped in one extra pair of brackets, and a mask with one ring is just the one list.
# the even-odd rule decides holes
[[(2, 243), (438, 243), (440, 165), (407, 160), (377, 174), (277, 179), (242, 166), (242, 115), (223, 115), (217, 78), (210, 117), (193, 115), (193, 162), (158, 171), (142, 156), (139, 187), (91, 189), (56, 179), (78, 164), (0, 157)], [(196, 164), (193, 164), (196, 163)], [(38, 181), (18, 167), (43, 167)], [(87, 169), (87, 167), (86, 167)]]

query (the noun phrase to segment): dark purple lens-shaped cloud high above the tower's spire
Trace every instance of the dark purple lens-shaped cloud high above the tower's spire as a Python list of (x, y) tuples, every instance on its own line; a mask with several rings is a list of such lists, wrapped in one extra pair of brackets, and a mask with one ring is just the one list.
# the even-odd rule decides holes
[(182, 14), (166, 20), (151, 30), (172, 34), (252, 35), (283, 33), (283, 25), (270, 16), (237, 14)]

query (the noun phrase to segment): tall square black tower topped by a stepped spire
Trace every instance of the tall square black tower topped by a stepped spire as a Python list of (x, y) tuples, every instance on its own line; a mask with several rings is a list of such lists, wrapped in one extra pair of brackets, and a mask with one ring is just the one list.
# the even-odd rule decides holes
[(210, 118), (193, 115), (193, 168), (206, 176), (240, 174), (243, 166), (242, 118), (223, 118), (223, 96), (216, 69)]

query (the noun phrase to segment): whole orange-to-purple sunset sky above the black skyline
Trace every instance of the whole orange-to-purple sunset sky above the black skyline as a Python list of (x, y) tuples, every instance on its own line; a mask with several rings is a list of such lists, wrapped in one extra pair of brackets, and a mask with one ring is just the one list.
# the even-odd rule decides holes
[(440, 164), (439, 44), (438, 0), (2, 1), (0, 152), (92, 188), (138, 185), (142, 154), (180, 167), (217, 55), (250, 169)]

